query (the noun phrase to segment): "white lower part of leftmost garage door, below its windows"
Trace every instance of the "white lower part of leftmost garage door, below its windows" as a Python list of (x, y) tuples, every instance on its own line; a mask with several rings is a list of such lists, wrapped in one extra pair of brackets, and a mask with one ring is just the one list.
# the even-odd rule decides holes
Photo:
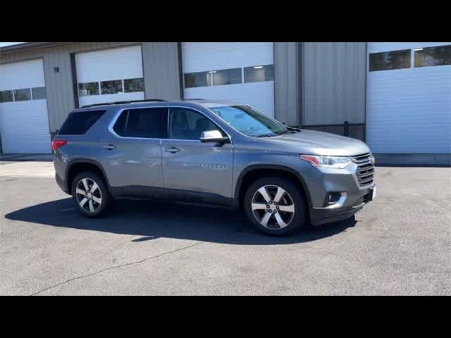
[(0, 133), (4, 154), (49, 154), (47, 100), (0, 104)]

